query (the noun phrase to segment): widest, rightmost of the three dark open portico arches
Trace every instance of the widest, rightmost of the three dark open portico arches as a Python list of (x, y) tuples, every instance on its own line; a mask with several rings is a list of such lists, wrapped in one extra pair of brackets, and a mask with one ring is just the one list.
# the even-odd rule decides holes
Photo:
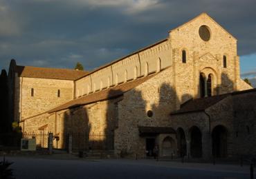
[(212, 156), (215, 157), (226, 157), (228, 146), (227, 146), (228, 131), (223, 125), (217, 125), (212, 130)]

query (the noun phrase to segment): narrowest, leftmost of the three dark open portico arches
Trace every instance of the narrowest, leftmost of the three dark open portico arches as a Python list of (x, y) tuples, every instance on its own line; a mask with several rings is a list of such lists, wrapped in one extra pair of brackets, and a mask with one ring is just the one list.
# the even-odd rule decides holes
[(178, 145), (178, 156), (183, 157), (187, 155), (187, 145), (185, 139), (184, 130), (179, 127), (177, 129), (177, 145)]

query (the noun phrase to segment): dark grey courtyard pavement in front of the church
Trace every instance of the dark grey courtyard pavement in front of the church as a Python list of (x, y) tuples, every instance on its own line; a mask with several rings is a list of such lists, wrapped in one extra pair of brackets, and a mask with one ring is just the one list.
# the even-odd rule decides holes
[[(15, 178), (250, 178), (248, 165), (153, 159), (89, 159), (69, 154), (6, 156)], [(256, 178), (256, 177), (255, 177)]]

